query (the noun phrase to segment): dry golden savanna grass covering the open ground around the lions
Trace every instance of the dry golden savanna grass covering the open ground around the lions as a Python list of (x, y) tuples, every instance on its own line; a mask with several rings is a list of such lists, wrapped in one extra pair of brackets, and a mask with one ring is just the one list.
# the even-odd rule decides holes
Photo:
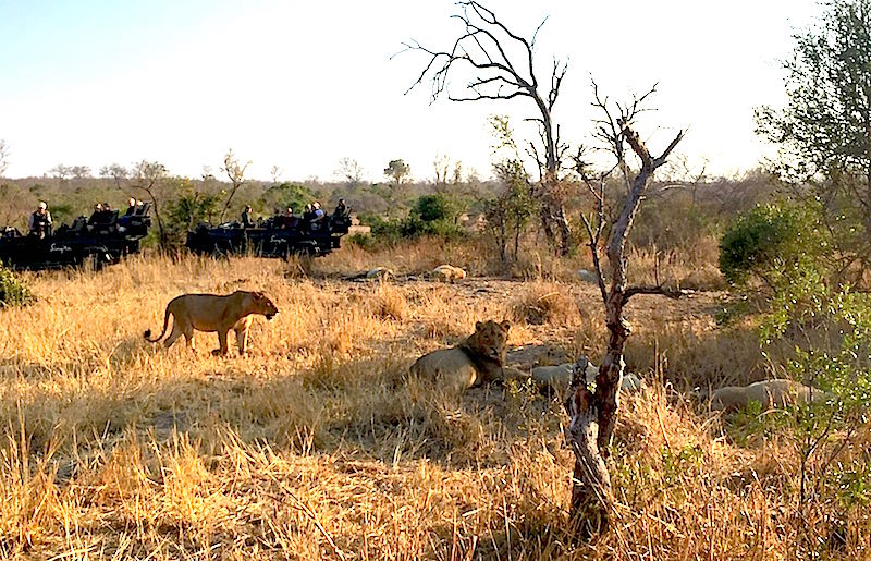
[[(867, 558), (867, 513), (823, 501), (796, 509), (793, 443), (738, 447), (723, 419), (686, 397), (771, 370), (752, 333), (715, 327), (721, 294), (709, 292), (630, 305), (627, 363), (651, 389), (624, 400), (610, 461), (613, 529), (573, 545), (559, 399), (515, 386), (455, 397), (405, 373), (486, 319), (513, 321), (512, 347), (596, 357), (597, 289), (577, 279), (581, 258), (541, 256), (525, 273), (532, 280), (514, 281), (481, 278), (488, 265), (474, 248), (440, 252), (343, 248), (311, 276), (278, 260), (194, 257), (26, 276), (39, 302), (0, 313), (0, 553), (790, 559), (824, 546), (830, 557)], [(653, 276), (657, 259), (640, 256), (635, 275)], [(341, 280), (441, 263), (477, 278)], [(671, 267), (675, 278), (713, 275)], [(210, 333), (197, 334), (197, 353), (143, 340), (173, 296), (236, 289), (263, 290), (280, 309), (255, 320), (250, 356), (211, 356)], [(835, 522), (846, 529), (832, 545)]]

